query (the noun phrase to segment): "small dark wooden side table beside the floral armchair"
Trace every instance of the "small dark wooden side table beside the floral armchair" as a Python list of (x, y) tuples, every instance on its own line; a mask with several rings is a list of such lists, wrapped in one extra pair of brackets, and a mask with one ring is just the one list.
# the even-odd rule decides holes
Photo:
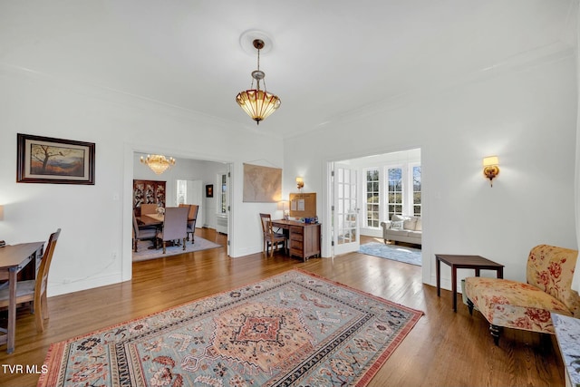
[(457, 312), (457, 269), (474, 269), (475, 276), (479, 276), (480, 270), (495, 270), (498, 278), (504, 277), (504, 266), (490, 261), (483, 256), (455, 256), (449, 254), (436, 254), (437, 268), (437, 296), (441, 295), (441, 262), (451, 266), (451, 294), (453, 297), (453, 311)]

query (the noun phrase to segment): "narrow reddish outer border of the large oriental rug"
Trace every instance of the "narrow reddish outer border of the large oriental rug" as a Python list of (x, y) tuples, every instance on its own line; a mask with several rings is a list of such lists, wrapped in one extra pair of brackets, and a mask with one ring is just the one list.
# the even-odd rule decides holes
[[(384, 352), (376, 359), (376, 361), (372, 364), (372, 366), (366, 372), (364, 372), (362, 374), (361, 379), (355, 384), (355, 386), (357, 386), (357, 387), (366, 386), (369, 382), (371, 382), (371, 380), (374, 377), (374, 375), (377, 372), (379, 372), (379, 370), (382, 368), (382, 365), (384, 365), (384, 363), (386, 363), (386, 361), (389, 359), (389, 357), (391, 356), (391, 354), (399, 347), (399, 345), (402, 343), (402, 341), (411, 332), (412, 328), (419, 322), (420, 317), (422, 317), (425, 314), (423, 311), (421, 311), (419, 309), (414, 309), (414, 308), (411, 308), (409, 306), (405, 306), (405, 305), (401, 305), (401, 304), (395, 303), (395, 302), (393, 302), (391, 300), (388, 300), (386, 298), (382, 298), (382, 297), (380, 297), (378, 295), (372, 295), (371, 293), (368, 293), (368, 292), (365, 292), (363, 290), (354, 288), (354, 287), (352, 287), (350, 285), (345, 285), (345, 284), (343, 284), (341, 282), (334, 281), (333, 279), (326, 278), (324, 276), (321, 276), (321, 275), (318, 275), (318, 274), (309, 272), (309, 271), (304, 270), (304, 269), (301, 269), (301, 268), (294, 268), (294, 269), (290, 269), (290, 270), (285, 270), (284, 272), (281, 272), (281, 273), (278, 273), (278, 274), (275, 274), (275, 275), (272, 275), (272, 276), (266, 276), (266, 277), (263, 277), (263, 278), (258, 278), (258, 279), (253, 280), (253, 281), (248, 281), (247, 283), (245, 283), (245, 285), (237, 285), (237, 286), (235, 286), (235, 287), (233, 287), (231, 289), (227, 289), (227, 290), (225, 290), (223, 292), (218, 292), (218, 293), (215, 293), (215, 294), (212, 294), (212, 295), (206, 295), (206, 296), (203, 296), (203, 297), (200, 297), (200, 298), (191, 300), (191, 301), (186, 302), (186, 303), (182, 303), (182, 304), (179, 304), (179, 305), (169, 306), (169, 307), (164, 308), (164, 309), (161, 309), (160, 311), (157, 311), (157, 312), (152, 312), (150, 314), (142, 314), (139, 317), (135, 317), (135, 318), (132, 318), (132, 319), (129, 319), (129, 320), (124, 320), (124, 321), (122, 321), (119, 324), (111, 324), (111, 325), (102, 327), (102, 328), (100, 328), (98, 330), (95, 330), (95, 331), (92, 331), (92, 332), (89, 332), (89, 333), (86, 333), (86, 334), (80, 334), (80, 335), (74, 336), (74, 337), (69, 338), (69, 339), (65, 339), (65, 340), (60, 341), (60, 342), (57, 342), (57, 343), (51, 343), (50, 346), (49, 346), (49, 348), (48, 348), (48, 351), (46, 353), (46, 357), (45, 357), (45, 360), (44, 360), (44, 363), (43, 363), (43, 368), (48, 369), (49, 372), (41, 373), (40, 378), (39, 378), (38, 383), (37, 383), (37, 386), (39, 386), (39, 387), (50, 387), (50, 386), (55, 385), (55, 382), (57, 382), (56, 379), (58, 377), (58, 372), (50, 372), (50, 371), (53, 371), (53, 370), (57, 370), (58, 371), (58, 366), (59, 366), (60, 361), (61, 361), (61, 359), (63, 357), (63, 351), (64, 351), (64, 348), (66, 347), (66, 344), (67, 343), (74, 342), (76, 340), (82, 339), (83, 337), (88, 337), (88, 336), (91, 336), (91, 335), (94, 335), (94, 334), (99, 334), (99, 333), (102, 333), (102, 332), (105, 332), (105, 331), (108, 331), (108, 330), (111, 330), (111, 329), (114, 329), (114, 328), (118, 328), (118, 327), (120, 327), (122, 325), (131, 324), (131, 323), (136, 322), (138, 320), (143, 320), (143, 319), (150, 318), (150, 317), (153, 317), (153, 316), (156, 316), (156, 315), (159, 315), (159, 314), (164, 314), (164, 313), (168, 312), (169, 310), (178, 309), (180, 307), (183, 307), (185, 305), (189, 305), (191, 303), (198, 303), (198, 302), (201, 302), (203, 300), (206, 300), (206, 299), (215, 297), (217, 295), (226, 295), (226, 294), (231, 293), (231, 292), (234, 292), (234, 291), (236, 291), (238, 289), (245, 288), (248, 285), (254, 285), (256, 283), (259, 283), (259, 282), (262, 282), (262, 281), (266, 281), (266, 280), (275, 278), (277, 276), (286, 276), (287, 274), (292, 273), (292, 272), (302, 273), (302, 274), (304, 274), (306, 276), (312, 276), (312, 277), (314, 277), (316, 279), (319, 279), (321, 281), (324, 281), (324, 282), (329, 283), (329, 284), (332, 284), (332, 285), (342, 286), (342, 287), (344, 287), (344, 288), (346, 288), (346, 289), (348, 289), (348, 290), (350, 290), (350, 291), (352, 291), (354, 293), (357, 293), (359, 295), (364, 295), (364, 296), (371, 297), (372, 299), (377, 300), (377, 301), (380, 301), (380, 302), (383, 302), (383, 303), (387, 303), (387, 304), (390, 304), (390, 305), (394, 305), (394, 306), (396, 306), (398, 308), (401, 308), (401, 309), (403, 309), (403, 310), (405, 310), (405, 311), (407, 311), (407, 312), (409, 312), (409, 313), (412, 314), (411, 319), (405, 325), (405, 327), (403, 329), (401, 329), (401, 331), (399, 332), (399, 334), (389, 344), (389, 346), (384, 350)], [(50, 378), (49, 379), (48, 377), (50, 375), (52, 375), (53, 378)]]

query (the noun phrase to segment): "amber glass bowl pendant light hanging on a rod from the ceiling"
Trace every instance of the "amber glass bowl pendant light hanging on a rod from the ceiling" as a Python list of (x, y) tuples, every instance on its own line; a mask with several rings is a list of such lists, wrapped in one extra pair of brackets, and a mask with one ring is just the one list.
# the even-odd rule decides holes
[[(260, 50), (264, 48), (264, 41), (255, 39), (253, 44), (257, 50), (257, 70), (252, 72), (250, 89), (239, 92), (236, 102), (259, 125), (260, 121), (265, 120), (280, 107), (280, 99), (271, 92), (266, 92), (266, 81), (264, 81), (266, 73), (260, 71)], [(253, 88), (254, 80), (256, 80), (256, 89)], [(264, 90), (260, 90), (260, 81), (264, 81)]]

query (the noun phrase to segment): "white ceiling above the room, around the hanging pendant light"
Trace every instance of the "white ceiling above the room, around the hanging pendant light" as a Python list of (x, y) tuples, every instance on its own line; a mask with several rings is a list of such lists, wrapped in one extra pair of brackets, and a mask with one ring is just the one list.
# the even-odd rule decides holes
[(255, 127), (256, 54), (281, 136), (575, 51), (578, 0), (0, 0), (0, 64)]

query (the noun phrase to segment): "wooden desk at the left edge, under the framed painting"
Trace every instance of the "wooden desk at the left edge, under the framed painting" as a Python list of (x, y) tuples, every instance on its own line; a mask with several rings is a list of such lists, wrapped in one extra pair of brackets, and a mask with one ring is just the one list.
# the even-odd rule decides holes
[[(24, 266), (34, 261), (34, 270), (37, 259), (43, 254), (44, 242), (22, 243), (0, 247), (0, 280), (8, 280), (8, 327), (6, 334), (0, 336), (0, 344), (6, 343), (7, 353), (14, 352), (14, 334), (16, 330), (16, 281), (18, 272)], [(34, 271), (35, 273), (35, 271)]]

